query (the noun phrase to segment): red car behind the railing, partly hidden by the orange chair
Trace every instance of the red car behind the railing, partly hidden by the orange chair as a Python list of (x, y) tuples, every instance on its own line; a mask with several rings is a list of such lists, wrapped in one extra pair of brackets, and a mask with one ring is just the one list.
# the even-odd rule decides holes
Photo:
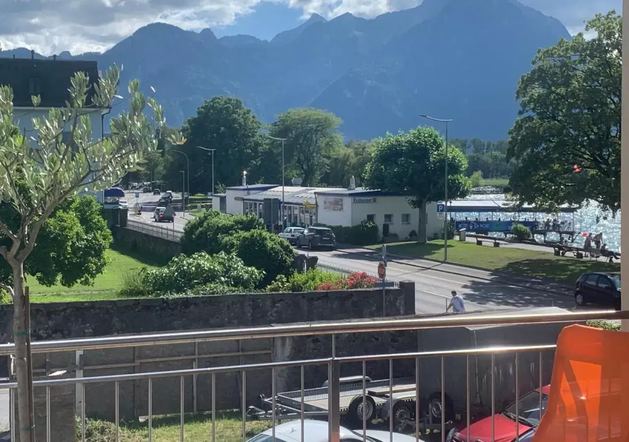
[[(542, 387), (542, 413), (540, 414), (540, 390), (535, 389), (532, 392), (523, 395), (520, 398), (519, 414), (516, 416), (516, 402), (506, 407), (506, 410), (493, 417), (494, 420), (494, 441), (495, 442), (515, 442), (516, 425), (518, 425), (518, 434), (523, 436), (527, 431), (539, 425), (542, 414), (546, 410), (548, 402), (548, 391), (550, 385)], [(491, 420), (492, 417), (486, 417), (469, 426), (469, 428), (460, 431), (452, 431), (448, 434), (446, 442), (491, 442)], [(469, 432), (469, 439), (467, 433)]]

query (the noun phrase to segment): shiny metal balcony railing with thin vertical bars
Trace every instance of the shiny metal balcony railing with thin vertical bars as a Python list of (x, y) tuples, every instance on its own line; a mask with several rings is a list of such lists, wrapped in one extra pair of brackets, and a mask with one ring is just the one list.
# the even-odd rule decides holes
[[(331, 356), (312, 358), (308, 360), (287, 360), (276, 361), (267, 363), (239, 363), (237, 365), (225, 365), (220, 367), (204, 367), (204, 368), (189, 368), (183, 370), (162, 370), (152, 372), (140, 372), (140, 373), (126, 373), (126, 374), (114, 374), (114, 375), (99, 375), (90, 377), (81, 377), (79, 370), (82, 373), (81, 367), (74, 367), (76, 370), (73, 378), (45, 378), (38, 379), (34, 382), (35, 390), (45, 390), (45, 438), (43, 440), (47, 442), (57, 442), (53, 436), (53, 413), (52, 398), (55, 398), (55, 391), (57, 389), (67, 389), (68, 387), (74, 387), (76, 392), (77, 404), (76, 414), (79, 419), (78, 427), (78, 440), (82, 442), (89, 440), (86, 439), (86, 404), (94, 401), (104, 401), (109, 395), (114, 396), (114, 413), (113, 424), (115, 432), (111, 435), (111, 441), (119, 442), (121, 435), (121, 422), (126, 420), (121, 418), (121, 388), (126, 382), (133, 382), (134, 385), (145, 385), (146, 393), (148, 396), (147, 401), (147, 416), (146, 416), (146, 439), (148, 441), (155, 440), (155, 419), (157, 414), (165, 414), (163, 412), (164, 407), (159, 401), (155, 401), (155, 395), (162, 393), (160, 391), (160, 385), (155, 387), (155, 384), (162, 382), (164, 378), (174, 379), (178, 384), (178, 407), (177, 410), (171, 410), (168, 414), (178, 414), (179, 416), (179, 431), (178, 437), (175, 439), (184, 441), (186, 439), (186, 414), (191, 407), (189, 404), (189, 394), (198, 396), (199, 386), (196, 383), (199, 377), (208, 377), (209, 382), (208, 396), (211, 397), (209, 401), (208, 411), (211, 414), (207, 419), (207, 433), (204, 436), (204, 440), (209, 439), (213, 442), (231, 442), (231, 440), (224, 434), (220, 436), (217, 434), (217, 420), (218, 420), (218, 404), (217, 388), (221, 387), (221, 380), (217, 378), (225, 375), (225, 373), (236, 373), (238, 380), (238, 392), (234, 392), (231, 395), (232, 399), (234, 395), (239, 396), (240, 411), (238, 415), (241, 421), (241, 429), (239, 431), (237, 439), (247, 441), (252, 437), (252, 434), (248, 434), (247, 426), (253, 419), (265, 420), (268, 419), (269, 423), (269, 438), (268, 439), (255, 439), (271, 441), (281, 441), (281, 436), (276, 435), (276, 423), (278, 421), (291, 421), (292, 419), (298, 419), (299, 424), (294, 424), (294, 431), (301, 433), (301, 439), (303, 440), (304, 432), (311, 433), (313, 431), (319, 431), (321, 423), (313, 424), (309, 417), (325, 417), (328, 424), (325, 426), (325, 431), (328, 432), (328, 440), (331, 442), (340, 442), (341, 440), (356, 440), (370, 442), (379, 440), (382, 436), (376, 436), (376, 439), (369, 438), (370, 429), (374, 424), (370, 423), (376, 416), (377, 411), (381, 417), (384, 417), (386, 424), (381, 424), (381, 431), (392, 434), (394, 431), (404, 431), (407, 434), (411, 434), (416, 441), (428, 441), (429, 439), (420, 434), (418, 429), (430, 428), (433, 429), (431, 434), (438, 434), (437, 438), (431, 438), (430, 441), (440, 440), (445, 441), (448, 437), (448, 430), (451, 427), (448, 419), (451, 416), (447, 416), (448, 407), (448, 392), (447, 387), (447, 365), (451, 361), (464, 361), (464, 365), (460, 365), (461, 372), (457, 375), (457, 381), (460, 382), (462, 377), (462, 370), (465, 370), (466, 377), (464, 380), (464, 396), (465, 404), (464, 411), (462, 412), (462, 422), (460, 426), (470, 426), (474, 414), (473, 403), (474, 394), (479, 394), (479, 386), (473, 385), (479, 381), (479, 358), (488, 358), (489, 367), (489, 380), (488, 385), (490, 398), (489, 407), (487, 412), (489, 416), (494, 416), (496, 412), (502, 411), (502, 407), (496, 403), (496, 389), (505, 377), (515, 378), (513, 382), (513, 397), (519, 398), (520, 393), (526, 393), (532, 389), (538, 389), (540, 392), (543, 387), (549, 383), (550, 369), (552, 368), (552, 360), (548, 357), (544, 357), (545, 353), (553, 351), (555, 345), (548, 343), (547, 345), (526, 345), (526, 346), (490, 346), (486, 348), (464, 348), (457, 350), (439, 350), (439, 351), (415, 351), (409, 353), (394, 353), (394, 354), (378, 354), (378, 355), (350, 355), (350, 356), (338, 356), (337, 355), (337, 340), (342, 339), (347, 334), (357, 333), (382, 333), (392, 331), (418, 331), (427, 329), (448, 329), (459, 327), (471, 327), (471, 326), (497, 326), (497, 325), (516, 325), (516, 324), (555, 324), (555, 323), (577, 323), (588, 319), (629, 319), (629, 312), (611, 312), (611, 311), (582, 311), (582, 312), (565, 312), (559, 314), (475, 314), (475, 315), (450, 315), (442, 317), (431, 318), (412, 318), (412, 319), (379, 319), (379, 320), (361, 320), (361, 321), (348, 321), (339, 323), (316, 323), (316, 324), (286, 324), (274, 327), (255, 327), (255, 328), (238, 328), (238, 329), (211, 329), (201, 331), (183, 331), (177, 333), (153, 333), (142, 335), (128, 335), (128, 336), (105, 336), (102, 338), (84, 338), (84, 339), (71, 339), (71, 340), (55, 340), (55, 341), (36, 341), (32, 344), (32, 351), (35, 355), (45, 354), (47, 356), (47, 371), (55, 371), (52, 367), (49, 367), (48, 357), (52, 359), (55, 353), (65, 352), (83, 352), (93, 351), (95, 354), (103, 354), (99, 352), (110, 351), (113, 349), (124, 348), (147, 348), (149, 346), (164, 346), (169, 345), (186, 345), (194, 344), (199, 345), (201, 343), (208, 343), (212, 341), (253, 341), (264, 340), (269, 338), (285, 339), (298, 336), (315, 336), (320, 338), (321, 336), (329, 336), (331, 338)], [(240, 344), (239, 344), (240, 345)], [(279, 349), (281, 350), (281, 349)], [(0, 356), (12, 356), (14, 353), (13, 344), (0, 345)], [(174, 356), (173, 356), (174, 357)], [(168, 360), (168, 358), (161, 358), (162, 361)], [(436, 360), (436, 362), (435, 362)], [(499, 360), (501, 361), (513, 361), (514, 364), (510, 365), (514, 368), (513, 373), (501, 373), (498, 372)], [(525, 363), (524, 360), (526, 360)], [(155, 360), (154, 360), (155, 361)], [(386, 371), (388, 372), (388, 378), (383, 381), (370, 380), (367, 373), (367, 367), (372, 364), (383, 363), (386, 365)], [(394, 377), (394, 365), (406, 365), (408, 369), (412, 365), (412, 373), (406, 373), (406, 377), (398, 375)], [(432, 367), (438, 367), (439, 379), (438, 384), (443, 386), (440, 388), (440, 395), (433, 396), (428, 403), (427, 409), (424, 409), (424, 404), (421, 400), (423, 394), (421, 381), (425, 376), (425, 368), (431, 365)], [(306, 375), (313, 367), (325, 367), (326, 382), (323, 387), (320, 388), (307, 388), (307, 383), (310, 381)], [(341, 368), (342, 366), (352, 366), (354, 372), (360, 372), (360, 375), (351, 378), (342, 378)], [(523, 366), (529, 366), (530, 370), (525, 370), (526, 373), (522, 373)], [(194, 365), (193, 365), (194, 367)], [(463, 368), (464, 367), (464, 368)], [(113, 369), (115, 367), (109, 367)], [(127, 367), (128, 368), (128, 367)], [(455, 370), (458, 367), (455, 367)], [(292, 382), (294, 385), (299, 385), (295, 390), (289, 392), (277, 391), (277, 382), (279, 379), (285, 379), (280, 375), (281, 372), (286, 374), (286, 370), (292, 370), (292, 373), (297, 373), (297, 382)], [(476, 371), (475, 371), (476, 370)], [(70, 368), (72, 371), (72, 368)], [(408, 371), (408, 370), (407, 370)], [(269, 372), (270, 374), (270, 397), (262, 398), (260, 404), (256, 404), (257, 407), (249, 406), (252, 403), (251, 396), (248, 395), (247, 385), (248, 376), (259, 377), (260, 373)], [(476, 379), (470, 374), (476, 374)], [(50, 373), (49, 373), (50, 374)], [(194, 387), (188, 388), (189, 381), (194, 380)], [(529, 390), (521, 390), (523, 380), (530, 382)], [(504, 382), (503, 382), (504, 383)], [(16, 402), (16, 383), (9, 382), (8, 384), (0, 384), (0, 390), (9, 389), (10, 397), (10, 423), (11, 423), (11, 440), (16, 441), (16, 419), (15, 419), (15, 402)], [(98, 389), (99, 394), (94, 394), (92, 397), (86, 395), (86, 387), (89, 387), (92, 391)], [(225, 385), (223, 385), (225, 387)], [(529, 387), (527, 387), (529, 388)], [(476, 390), (476, 392), (473, 392)], [(398, 401), (398, 402), (396, 402)], [(224, 402), (224, 401), (223, 401)], [(397, 404), (403, 404), (403, 406), (397, 406)], [(515, 415), (519, 416), (520, 410), (518, 409), (519, 402), (516, 401)], [(542, 395), (539, 399), (539, 410), (542, 410)], [(156, 411), (156, 407), (159, 407), (161, 412)], [(389, 411), (392, 409), (392, 412)], [(197, 410), (196, 399), (194, 405), (194, 411)], [(353, 415), (352, 415), (353, 413)], [(36, 413), (37, 414), (37, 413)], [(348, 416), (349, 414), (349, 416)], [(352, 421), (352, 429), (355, 433), (348, 435), (342, 433), (341, 417), (348, 417)], [(369, 415), (369, 416), (368, 416)], [(386, 419), (387, 416), (393, 416), (393, 418)], [(362, 422), (361, 422), (362, 421)], [(494, 420), (491, 419), (491, 441), (495, 439)], [(279, 430), (277, 430), (279, 431)], [(515, 439), (520, 436), (520, 427), (515, 426), (514, 429)], [(345, 436), (343, 436), (345, 434)], [(382, 440), (382, 442), (389, 442), (389, 435)], [(351, 439), (353, 437), (354, 439)], [(431, 436), (433, 437), (433, 436)], [(467, 434), (467, 438), (470, 438), (470, 434)], [(343, 438), (343, 439), (342, 439)], [(42, 440), (38, 438), (38, 440)], [(109, 439), (99, 439), (109, 440)], [(160, 438), (160, 440), (166, 440)], [(167, 439), (170, 441), (171, 439)], [(392, 439), (391, 439), (392, 440)], [(469, 439), (472, 441), (472, 439)], [(474, 440), (474, 442), (476, 442)]]

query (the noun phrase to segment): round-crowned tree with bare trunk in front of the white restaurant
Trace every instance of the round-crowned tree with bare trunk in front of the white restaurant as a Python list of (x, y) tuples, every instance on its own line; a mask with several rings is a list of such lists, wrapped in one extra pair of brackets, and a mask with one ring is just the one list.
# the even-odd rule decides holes
[[(365, 170), (370, 189), (399, 192), (409, 196), (419, 209), (417, 240), (426, 242), (426, 204), (444, 196), (445, 143), (437, 131), (420, 127), (408, 133), (387, 134), (373, 141), (374, 151)], [(464, 173), (467, 159), (456, 146), (448, 146), (448, 197), (457, 199), (469, 192)]]

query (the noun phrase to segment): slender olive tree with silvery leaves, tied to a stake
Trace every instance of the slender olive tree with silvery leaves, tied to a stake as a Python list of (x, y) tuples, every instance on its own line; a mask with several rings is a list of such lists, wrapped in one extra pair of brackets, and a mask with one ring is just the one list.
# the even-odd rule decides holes
[[(132, 80), (125, 100), (128, 111), (111, 118), (109, 136), (92, 138), (90, 114), (111, 108), (114, 99), (121, 98), (116, 95), (119, 81), (120, 69), (113, 67), (98, 80), (91, 94), (89, 78), (77, 72), (66, 106), (50, 109), (44, 118), (33, 118), (36, 137), (32, 139), (23, 137), (13, 122), (13, 91), (0, 87), (0, 203), (13, 204), (20, 217), (17, 228), (0, 219), (0, 235), (8, 238), (8, 245), (0, 246), (0, 255), (11, 267), (10, 278), (0, 281), (0, 287), (13, 297), (21, 442), (35, 439), (25, 316), (26, 259), (47, 219), (67, 198), (84, 189), (103, 189), (127, 172), (142, 169), (143, 158), (155, 150), (155, 135), (165, 124), (162, 107), (152, 97), (145, 97), (139, 82)], [(88, 96), (92, 96), (91, 102), (87, 102)], [(41, 101), (39, 96), (32, 100), (35, 108)], [(65, 131), (69, 131), (67, 138)], [(184, 140), (175, 134), (170, 141), (181, 144)], [(18, 187), (19, 182), (24, 185)]]

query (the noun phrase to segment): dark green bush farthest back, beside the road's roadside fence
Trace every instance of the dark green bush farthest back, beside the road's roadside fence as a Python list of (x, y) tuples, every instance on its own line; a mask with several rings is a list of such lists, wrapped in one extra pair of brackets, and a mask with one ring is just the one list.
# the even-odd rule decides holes
[(222, 250), (224, 236), (250, 230), (265, 230), (264, 221), (253, 214), (228, 215), (210, 210), (186, 224), (181, 248), (186, 255), (199, 251), (213, 255)]

